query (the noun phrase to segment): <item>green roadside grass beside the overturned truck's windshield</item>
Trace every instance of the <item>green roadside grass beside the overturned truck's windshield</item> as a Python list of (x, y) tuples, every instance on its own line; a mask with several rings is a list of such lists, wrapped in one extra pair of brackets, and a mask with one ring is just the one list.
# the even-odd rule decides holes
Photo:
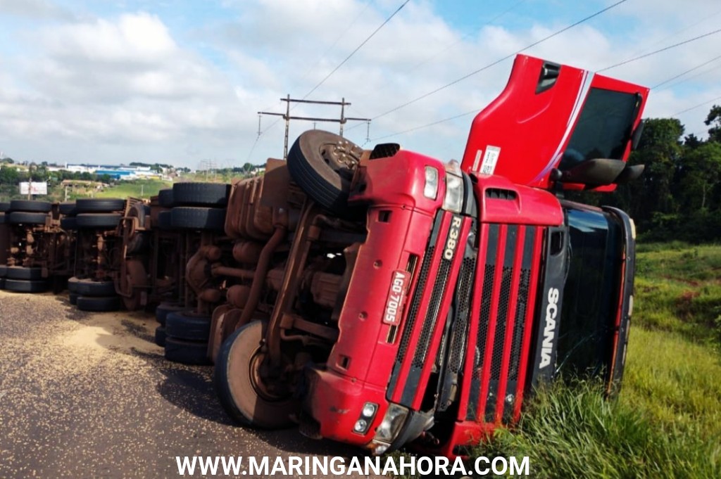
[(640, 246), (621, 393), (554, 385), (478, 455), (536, 478), (721, 477), (721, 246)]

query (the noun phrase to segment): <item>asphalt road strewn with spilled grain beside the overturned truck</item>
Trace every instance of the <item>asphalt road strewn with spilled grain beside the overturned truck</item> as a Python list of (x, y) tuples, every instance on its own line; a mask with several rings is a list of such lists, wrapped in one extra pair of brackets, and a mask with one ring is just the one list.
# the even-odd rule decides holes
[(146, 313), (81, 312), (66, 295), (0, 291), (0, 478), (176, 478), (176, 456), (358, 454), (235, 426), (212, 367), (167, 362), (156, 326)]

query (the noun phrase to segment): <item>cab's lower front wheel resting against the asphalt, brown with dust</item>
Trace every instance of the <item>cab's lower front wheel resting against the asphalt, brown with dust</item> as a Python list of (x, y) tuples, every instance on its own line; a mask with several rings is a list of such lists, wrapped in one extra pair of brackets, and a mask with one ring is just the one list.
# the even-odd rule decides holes
[(241, 424), (262, 429), (291, 426), (296, 412), (292, 396), (275, 396), (260, 379), (265, 321), (252, 321), (232, 333), (216, 358), (214, 383), (221, 405)]

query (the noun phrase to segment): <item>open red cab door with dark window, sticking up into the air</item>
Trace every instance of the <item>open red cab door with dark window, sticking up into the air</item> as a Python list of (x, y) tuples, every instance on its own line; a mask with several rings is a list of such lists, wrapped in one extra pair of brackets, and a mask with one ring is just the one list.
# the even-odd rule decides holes
[(626, 161), (647, 95), (644, 86), (518, 55), (503, 92), (474, 118), (461, 168), (549, 188), (553, 169), (574, 161)]

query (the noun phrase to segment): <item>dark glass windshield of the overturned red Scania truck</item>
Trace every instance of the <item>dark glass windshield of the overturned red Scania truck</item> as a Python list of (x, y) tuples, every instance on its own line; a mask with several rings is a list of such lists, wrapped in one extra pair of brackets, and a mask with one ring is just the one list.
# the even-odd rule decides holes
[(558, 372), (598, 375), (611, 359), (619, 301), (622, 225), (608, 212), (565, 207), (570, 264), (563, 291)]

